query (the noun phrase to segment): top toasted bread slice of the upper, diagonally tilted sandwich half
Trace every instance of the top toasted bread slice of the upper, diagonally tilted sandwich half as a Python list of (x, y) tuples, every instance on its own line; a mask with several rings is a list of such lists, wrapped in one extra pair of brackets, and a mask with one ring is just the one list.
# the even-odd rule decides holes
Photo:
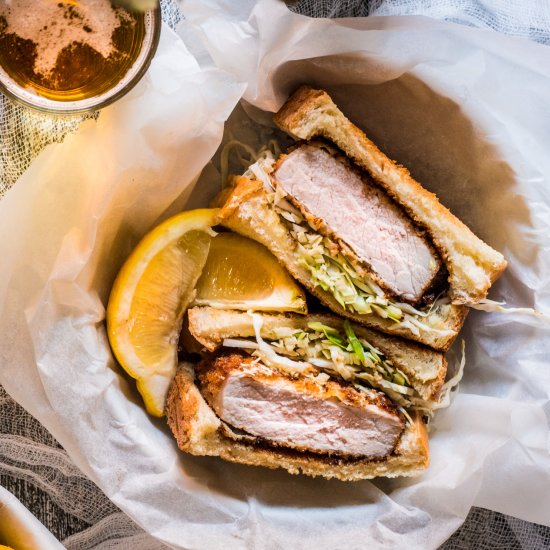
[(323, 90), (300, 87), (273, 120), (295, 139), (328, 139), (364, 169), (431, 236), (449, 271), (454, 303), (477, 303), (506, 268), (506, 260), (387, 157)]

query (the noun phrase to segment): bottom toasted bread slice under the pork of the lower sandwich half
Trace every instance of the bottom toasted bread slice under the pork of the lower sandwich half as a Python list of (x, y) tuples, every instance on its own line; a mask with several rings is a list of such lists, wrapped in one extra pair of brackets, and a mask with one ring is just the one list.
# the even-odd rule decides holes
[(222, 423), (202, 397), (189, 364), (180, 365), (170, 386), (166, 416), (178, 447), (184, 452), (219, 456), (251, 466), (283, 468), (291, 474), (359, 481), (380, 476), (415, 476), (429, 465), (426, 427), (418, 415), (405, 428), (395, 451), (382, 460), (349, 460), (234, 441), (224, 435)]

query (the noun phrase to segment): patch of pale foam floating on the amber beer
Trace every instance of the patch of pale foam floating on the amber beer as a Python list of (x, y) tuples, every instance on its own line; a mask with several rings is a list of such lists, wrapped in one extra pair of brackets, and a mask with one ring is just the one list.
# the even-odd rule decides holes
[(110, 0), (0, 0), (0, 16), (6, 20), (5, 33), (36, 44), (36, 73), (47, 75), (63, 48), (74, 42), (87, 44), (104, 58), (115, 51), (112, 35), (127, 12)]

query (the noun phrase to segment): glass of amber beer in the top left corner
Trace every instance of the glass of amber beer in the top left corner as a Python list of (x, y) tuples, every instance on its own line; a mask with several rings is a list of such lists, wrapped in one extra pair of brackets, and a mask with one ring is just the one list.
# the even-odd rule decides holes
[(112, 103), (145, 74), (160, 8), (134, 12), (111, 0), (0, 0), (0, 91), (49, 112)]

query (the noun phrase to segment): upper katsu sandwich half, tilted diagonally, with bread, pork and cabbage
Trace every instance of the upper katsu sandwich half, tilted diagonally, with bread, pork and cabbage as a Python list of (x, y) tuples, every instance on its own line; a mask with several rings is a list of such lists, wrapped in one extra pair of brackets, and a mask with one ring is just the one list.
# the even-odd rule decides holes
[(225, 227), (265, 245), (334, 313), (448, 350), (506, 267), (322, 90), (274, 116), (297, 142), (215, 199)]

